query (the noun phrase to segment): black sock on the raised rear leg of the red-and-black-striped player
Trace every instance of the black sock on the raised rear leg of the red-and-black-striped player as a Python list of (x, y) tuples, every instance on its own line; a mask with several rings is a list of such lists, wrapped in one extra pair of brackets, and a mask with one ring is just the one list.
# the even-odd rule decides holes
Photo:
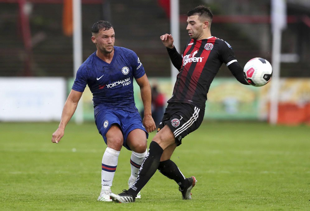
[(180, 169), (172, 160), (169, 159), (160, 162), (158, 166), (158, 171), (169, 179), (176, 181), (176, 183), (181, 187), (181, 189), (185, 187), (186, 181), (184, 175), (181, 173)]

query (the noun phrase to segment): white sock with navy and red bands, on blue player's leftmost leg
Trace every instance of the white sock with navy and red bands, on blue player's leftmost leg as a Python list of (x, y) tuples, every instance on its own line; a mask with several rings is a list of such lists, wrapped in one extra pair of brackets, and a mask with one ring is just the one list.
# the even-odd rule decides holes
[(120, 151), (107, 147), (102, 156), (101, 193), (106, 192), (107, 190), (110, 191), (119, 154)]

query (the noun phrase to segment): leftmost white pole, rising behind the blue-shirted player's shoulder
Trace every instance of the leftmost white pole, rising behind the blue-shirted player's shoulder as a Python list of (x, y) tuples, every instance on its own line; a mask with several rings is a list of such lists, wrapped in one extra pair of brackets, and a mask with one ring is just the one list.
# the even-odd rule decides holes
[[(73, 78), (82, 64), (82, 8), (81, 0), (73, 0)], [(82, 95), (83, 97), (83, 95)], [(80, 99), (75, 111), (75, 122), (83, 123), (83, 99)]]

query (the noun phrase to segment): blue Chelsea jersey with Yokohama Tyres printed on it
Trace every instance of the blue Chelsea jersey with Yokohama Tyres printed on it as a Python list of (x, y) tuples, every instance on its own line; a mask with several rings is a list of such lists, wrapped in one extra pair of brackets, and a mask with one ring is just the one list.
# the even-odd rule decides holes
[(134, 103), (133, 78), (140, 78), (144, 74), (143, 65), (136, 53), (114, 46), (110, 64), (97, 57), (96, 52), (83, 62), (72, 89), (83, 92), (88, 85), (93, 95), (95, 116), (97, 109), (136, 112), (138, 109)]

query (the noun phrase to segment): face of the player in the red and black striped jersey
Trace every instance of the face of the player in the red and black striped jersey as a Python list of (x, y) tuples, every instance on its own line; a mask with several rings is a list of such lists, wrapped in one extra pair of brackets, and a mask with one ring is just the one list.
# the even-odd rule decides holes
[(198, 19), (198, 15), (187, 17), (187, 27), (188, 35), (192, 39), (201, 39), (203, 37), (203, 22)]

